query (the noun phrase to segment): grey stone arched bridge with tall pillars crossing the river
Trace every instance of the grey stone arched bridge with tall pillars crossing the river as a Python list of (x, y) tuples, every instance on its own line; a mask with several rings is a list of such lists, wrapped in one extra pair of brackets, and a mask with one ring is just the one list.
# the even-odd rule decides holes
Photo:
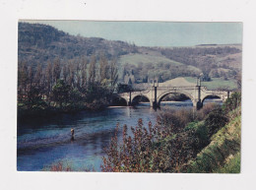
[(201, 85), (182, 86), (182, 87), (150, 87), (144, 91), (129, 92), (118, 94), (124, 98), (127, 105), (131, 105), (134, 98), (137, 96), (145, 96), (150, 100), (152, 107), (160, 107), (160, 101), (165, 95), (183, 94), (187, 95), (193, 102), (193, 106), (200, 109), (203, 106), (205, 98), (209, 96), (219, 96), (223, 101), (229, 96), (229, 92), (225, 91), (209, 91)]

